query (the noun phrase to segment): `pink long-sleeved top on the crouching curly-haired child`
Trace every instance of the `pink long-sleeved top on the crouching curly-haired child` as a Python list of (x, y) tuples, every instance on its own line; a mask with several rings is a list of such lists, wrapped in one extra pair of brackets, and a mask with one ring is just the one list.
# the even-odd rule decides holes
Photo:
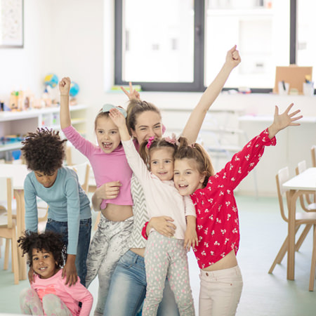
[[(65, 303), (73, 316), (89, 316), (93, 303), (91, 293), (80, 283), (79, 278), (71, 287), (65, 282), (66, 278), (62, 279), (62, 270), (59, 270), (48, 279), (40, 279), (38, 275), (35, 275), (31, 287), (41, 300), (46, 294), (55, 294)], [(81, 308), (79, 308), (79, 302), (82, 303)]]

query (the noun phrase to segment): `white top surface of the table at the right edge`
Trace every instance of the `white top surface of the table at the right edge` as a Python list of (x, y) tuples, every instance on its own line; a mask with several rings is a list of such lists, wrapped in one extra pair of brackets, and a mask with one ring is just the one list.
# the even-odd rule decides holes
[(289, 190), (316, 190), (316, 168), (308, 168), (291, 178), (283, 187)]

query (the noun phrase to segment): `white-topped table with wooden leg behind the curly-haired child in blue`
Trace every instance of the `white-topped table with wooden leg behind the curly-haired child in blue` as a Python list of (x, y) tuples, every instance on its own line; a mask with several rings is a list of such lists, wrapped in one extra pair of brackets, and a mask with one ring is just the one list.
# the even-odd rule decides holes
[[(13, 192), (16, 200), (17, 237), (25, 230), (24, 180), (29, 173), (25, 164), (0, 164), (1, 176), (13, 179)], [(19, 248), (20, 279), (26, 279), (26, 258)]]

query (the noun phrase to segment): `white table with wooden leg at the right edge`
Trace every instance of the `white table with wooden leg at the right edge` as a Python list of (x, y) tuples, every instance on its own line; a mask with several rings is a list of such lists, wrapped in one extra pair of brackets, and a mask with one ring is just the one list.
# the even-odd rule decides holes
[(284, 183), (283, 187), (289, 190), (289, 247), (287, 252), (287, 279), (294, 279), (296, 199), (298, 199), (301, 195), (315, 194), (316, 168), (306, 169), (298, 176), (295, 176)]

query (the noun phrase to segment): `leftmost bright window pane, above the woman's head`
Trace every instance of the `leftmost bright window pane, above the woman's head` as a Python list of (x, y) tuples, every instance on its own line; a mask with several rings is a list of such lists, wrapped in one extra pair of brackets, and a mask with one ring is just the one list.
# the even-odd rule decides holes
[(193, 6), (192, 0), (124, 1), (124, 81), (193, 81)]

